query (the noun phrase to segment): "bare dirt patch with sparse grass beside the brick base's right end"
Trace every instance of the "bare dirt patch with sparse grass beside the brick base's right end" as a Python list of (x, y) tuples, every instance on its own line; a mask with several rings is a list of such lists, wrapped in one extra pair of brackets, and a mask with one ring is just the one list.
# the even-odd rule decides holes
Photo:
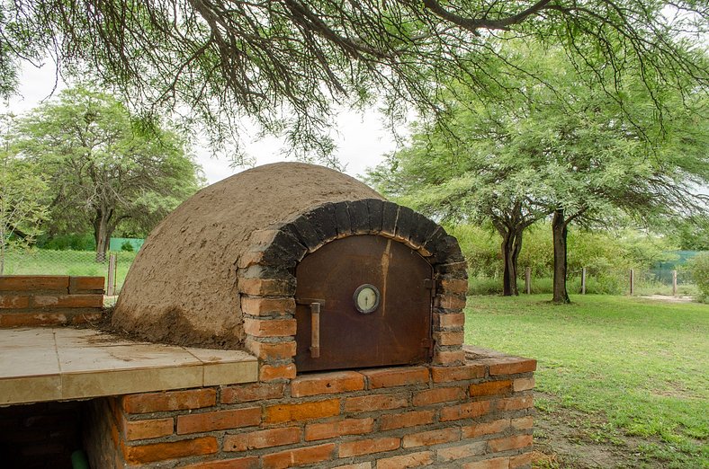
[[(535, 393), (535, 397), (557, 401), (551, 394)], [(534, 468), (664, 467), (638, 450), (639, 445), (650, 442), (622, 434), (604, 417), (558, 405), (550, 407), (537, 410), (534, 417)]]

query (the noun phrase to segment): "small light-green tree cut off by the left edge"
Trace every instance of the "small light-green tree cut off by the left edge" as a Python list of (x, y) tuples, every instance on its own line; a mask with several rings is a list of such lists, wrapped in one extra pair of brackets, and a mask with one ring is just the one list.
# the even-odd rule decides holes
[[(7, 129), (11, 119), (0, 115), (0, 128)], [(8, 247), (30, 245), (47, 212), (46, 182), (29, 162), (10, 152), (7, 137), (0, 134), (0, 275)]]

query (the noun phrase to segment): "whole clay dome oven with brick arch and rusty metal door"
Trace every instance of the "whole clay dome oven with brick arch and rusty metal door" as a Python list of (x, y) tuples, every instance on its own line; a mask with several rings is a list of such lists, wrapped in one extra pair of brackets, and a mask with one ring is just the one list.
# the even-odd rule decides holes
[(346, 174), (268, 164), (200, 190), (155, 228), (112, 323), (248, 350), (262, 373), (450, 362), (462, 338), (442, 332), (457, 330), (445, 318), (462, 317), (466, 285), (458, 243), (435, 222)]

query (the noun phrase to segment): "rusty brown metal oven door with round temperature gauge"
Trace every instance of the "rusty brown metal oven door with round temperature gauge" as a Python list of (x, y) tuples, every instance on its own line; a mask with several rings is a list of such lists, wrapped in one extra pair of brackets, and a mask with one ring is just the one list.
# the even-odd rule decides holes
[(296, 269), (298, 371), (426, 362), (431, 265), (389, 238), (342, 238)]

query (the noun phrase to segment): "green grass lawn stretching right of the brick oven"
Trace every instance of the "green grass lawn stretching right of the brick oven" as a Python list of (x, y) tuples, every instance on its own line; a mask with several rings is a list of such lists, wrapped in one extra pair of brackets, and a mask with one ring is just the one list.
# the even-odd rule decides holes
[[(465, 342), (538, 360), (540, 411), (602, 416), (662, 467), (709, 467), (709, 305), (624, 296), (469, 296)], [(603, 437), (601, 437), (603, 438)]]

